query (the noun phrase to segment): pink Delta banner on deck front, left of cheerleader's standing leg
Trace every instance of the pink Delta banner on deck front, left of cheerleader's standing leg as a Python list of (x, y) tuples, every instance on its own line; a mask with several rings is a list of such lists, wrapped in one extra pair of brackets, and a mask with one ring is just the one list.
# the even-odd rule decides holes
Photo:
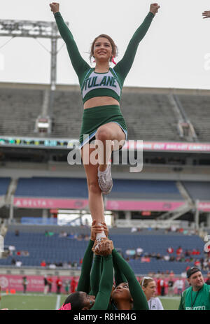
[(88, 206), (88, 199), (15, 197), (13, 205), (33, 209), (85, 209)]

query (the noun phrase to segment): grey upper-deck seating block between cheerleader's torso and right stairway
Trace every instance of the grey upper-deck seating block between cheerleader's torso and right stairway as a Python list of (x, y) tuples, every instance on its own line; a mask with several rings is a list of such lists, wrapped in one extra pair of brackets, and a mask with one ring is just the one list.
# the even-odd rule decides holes
[(181, 141), (178, 120), (167, 95), (126, 93), (121, 107), (127, 121), (128, 139)]

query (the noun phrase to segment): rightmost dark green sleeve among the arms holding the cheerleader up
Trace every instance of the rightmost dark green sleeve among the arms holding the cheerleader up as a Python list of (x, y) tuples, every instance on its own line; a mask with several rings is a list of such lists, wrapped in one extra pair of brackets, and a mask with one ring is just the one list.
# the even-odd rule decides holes
[(114, 248), (112, 251), (113, 255), (113, 263), (117, 263), (121, 272), (123, 272), (124, 276), (127, 279), (127, 283), (129, 284), (130, 294), (132, 295), (132, 299), (134, 300), (134, 310), (148, 310), (148, 302), (146, 300), (146, 296), (144, 295), (143, 290), (137, 278), (130, 267), (130, 265), (121, 257), (121, 255)]

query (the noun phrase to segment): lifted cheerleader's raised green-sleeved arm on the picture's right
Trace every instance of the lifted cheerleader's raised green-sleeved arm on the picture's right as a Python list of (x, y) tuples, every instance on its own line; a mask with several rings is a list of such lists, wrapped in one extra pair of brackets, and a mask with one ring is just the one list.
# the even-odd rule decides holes
[(140, 41), (144, 38), (146, 35), (146, 32), (148, 31), (151, 22), (153, 20), (153, 17), (155, 17), (155, 14), (158, 13), (158, 9), (160, 6), (158, 6), (158, 3), (152, 3), (150, 7), (150, 12), (144, 19), (144, 22), (142, 22), (141, 26), (137, 29), (137, 31), (132, 36), (132, 39), (130, 40), (130, 43), (127, 45), (127, 49), (125, 51), (125, 55), (123, 56), (123, 59), (116, 64), (114, 67), (114, 70), (119, 73), (120, 78), (122, 78), (123, 82), (127, 76), (127, 73), (130, 71), (132, 64), (134, 62), (134, 57), (137, 53), (137, 48), (140, 43)]

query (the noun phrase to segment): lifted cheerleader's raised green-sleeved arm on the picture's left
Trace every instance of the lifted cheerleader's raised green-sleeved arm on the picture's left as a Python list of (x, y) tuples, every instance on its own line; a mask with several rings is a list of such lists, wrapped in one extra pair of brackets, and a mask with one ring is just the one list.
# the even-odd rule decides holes
[(76, 71), (80, 80), (80, 78), (83, 78), (83, 73), (87, 71), (87, 69), (90, 69), (90, 66), (80, 55), (76, 42), (73, 39), (73, 35), (71, 34), (69, 27), (67, 27), (66, 23), (62, 18), (61, 13), (59, 12), (59, 3), (50, 3), (50, 8), (55, 16), (55, 21), (57, 23), (59, 34), (62, 36), (64, 42), (66, 43), (66, 48), (69, 52), (69, 57), (71, 59), (71, 64), (73, 65), (73, 69)]

